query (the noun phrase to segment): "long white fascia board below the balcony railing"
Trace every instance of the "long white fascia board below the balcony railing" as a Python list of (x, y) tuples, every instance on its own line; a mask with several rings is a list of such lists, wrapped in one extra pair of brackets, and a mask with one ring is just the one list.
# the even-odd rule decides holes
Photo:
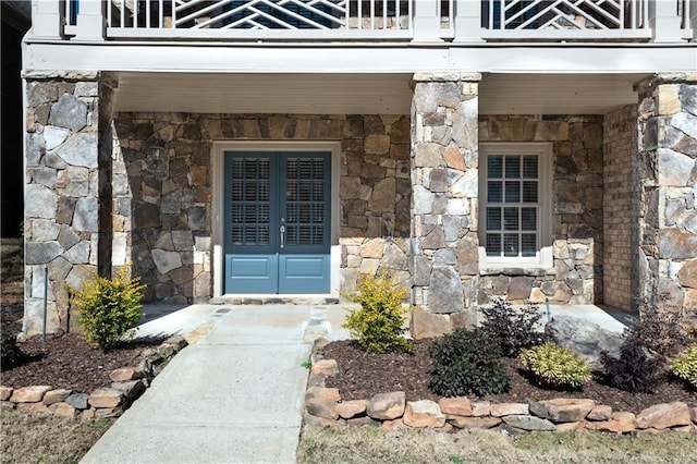
[(697, 71), (697, 45), (311, 47), (32, 42), (30, 71), (651, 73)]

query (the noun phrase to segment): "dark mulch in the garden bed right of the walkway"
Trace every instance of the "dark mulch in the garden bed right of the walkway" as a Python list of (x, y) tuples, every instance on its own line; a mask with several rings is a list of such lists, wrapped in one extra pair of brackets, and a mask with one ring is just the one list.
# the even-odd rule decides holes
[[(414, 354), (392, 353), (376, 355), (365, 353), (351, 341), (338, 341), (318, 350), (325, 358), (337, 359), (339, 375), (328, 377), (327, 387), (339, 388), (344, 400), (368, 399), (376, 393), (404, 391), (407, 401), (433, 400), (440, 396), (429, 388), (428, 370), (430, 357), (428, 341), (417, 341)], [(688, 391), (683, 382), (667, 380), (653, 394), (629, 393), (609, 387), (602, 376), (586, 383), (580, 391), (557, 391), (538, 388), (530, 383), (517, 359), (505, 359), (512, 387), (509, 393), (489, 395), (484, 400), (503, 402), (527, 402), (552, 398), (589, 398), (596, 403), (612, 406), (615, 411), (638, 413), (659, 403), (683, 401), (697, 405), (697, 392)], [(472, 396), (472, 399), (475, 399)]]

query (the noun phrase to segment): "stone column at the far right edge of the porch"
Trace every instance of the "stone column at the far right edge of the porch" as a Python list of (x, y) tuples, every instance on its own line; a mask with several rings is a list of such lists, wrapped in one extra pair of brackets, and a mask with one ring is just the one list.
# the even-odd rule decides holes
[(636, 90), (637, 296), (697, 323), (697, 74), (658, 74)]

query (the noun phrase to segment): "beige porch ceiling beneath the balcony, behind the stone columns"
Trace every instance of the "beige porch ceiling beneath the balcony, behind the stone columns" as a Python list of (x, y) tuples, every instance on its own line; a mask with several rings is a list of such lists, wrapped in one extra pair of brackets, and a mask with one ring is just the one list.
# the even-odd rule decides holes
[[(604, 114), (648, 74), (486, 74), (482, 114)], [(119, 73), (115, 111), (408, 114), (411, 74)]]

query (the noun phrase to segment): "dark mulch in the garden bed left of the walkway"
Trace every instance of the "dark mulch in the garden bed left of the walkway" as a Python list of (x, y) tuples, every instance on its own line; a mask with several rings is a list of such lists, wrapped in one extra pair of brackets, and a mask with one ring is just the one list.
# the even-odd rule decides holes
[[(3, 313), (2, 330), (16, 332), (16, 315)], [(161, 342), (161, 339), (132, 341), (105, 353), (88, 345), (80, 333), (48, 335), (46, 343), (40, 335), (33, 337), (17, 343), (27, 356), (20, 366), (8, 370), (2, 366), (0, 383), (12, 388), (51, 386), (91, 393), (111, 384), (109, 373), (113, 369), (137, 366), (144, 357), (143, 352)]]

